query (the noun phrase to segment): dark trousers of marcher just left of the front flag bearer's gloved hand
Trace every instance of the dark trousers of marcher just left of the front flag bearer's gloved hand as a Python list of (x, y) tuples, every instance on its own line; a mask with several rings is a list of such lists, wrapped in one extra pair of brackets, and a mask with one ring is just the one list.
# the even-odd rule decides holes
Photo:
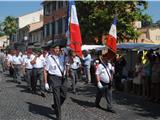
[(40, 83), (40, 92), (44, 91), (44, 81), (43, 81), (43, 68), (34, 68), (33, 69), (33, 86), (32, 90), (36, 92), (37, 80)]

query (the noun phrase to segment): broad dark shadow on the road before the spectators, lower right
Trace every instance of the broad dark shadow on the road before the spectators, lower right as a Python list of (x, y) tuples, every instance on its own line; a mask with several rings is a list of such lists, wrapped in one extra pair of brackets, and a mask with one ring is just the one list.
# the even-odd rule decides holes
[(113, 99), (119, 105), (131, 106), (131, 109), (140, 116), (160, 118), (160, 104), (146, 101), (143, 97), (114, 91)]

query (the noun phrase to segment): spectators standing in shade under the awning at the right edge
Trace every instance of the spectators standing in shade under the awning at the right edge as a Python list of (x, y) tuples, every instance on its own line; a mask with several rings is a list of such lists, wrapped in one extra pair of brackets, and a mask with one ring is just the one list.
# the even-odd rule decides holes
[(160, 54), (153, 50), (138, 53), (133, 91), (146, 100), (160, 102)]

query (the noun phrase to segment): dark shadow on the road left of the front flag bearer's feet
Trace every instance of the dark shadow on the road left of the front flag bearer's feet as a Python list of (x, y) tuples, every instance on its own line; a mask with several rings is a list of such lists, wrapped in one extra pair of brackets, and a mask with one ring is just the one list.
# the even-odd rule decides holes
[(26, 103), (29, 105), (29, 112), (48, 117), (49, 119), (52, 119), (52, 120), (56, 120), (56, 118), (52, 116), (54, 114), (54, 111), (51, 108), (33, 104), (30, 102), (26, 102)]

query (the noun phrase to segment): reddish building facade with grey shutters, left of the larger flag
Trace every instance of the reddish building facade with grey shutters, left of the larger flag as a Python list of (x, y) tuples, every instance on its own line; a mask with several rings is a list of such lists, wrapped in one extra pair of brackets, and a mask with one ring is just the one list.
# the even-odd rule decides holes
[(43, 39), (45, 44), (65, 39), (67, 1), (44, 1)]

